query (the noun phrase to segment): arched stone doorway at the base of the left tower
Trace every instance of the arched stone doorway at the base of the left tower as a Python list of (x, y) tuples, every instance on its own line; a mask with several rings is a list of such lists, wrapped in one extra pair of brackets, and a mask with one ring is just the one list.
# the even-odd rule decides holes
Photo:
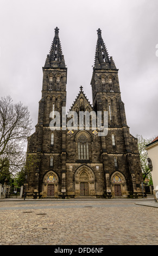
[(46, 173), (42, 183), (42, 197), (58, 197), (59, 178), (52, 170)]

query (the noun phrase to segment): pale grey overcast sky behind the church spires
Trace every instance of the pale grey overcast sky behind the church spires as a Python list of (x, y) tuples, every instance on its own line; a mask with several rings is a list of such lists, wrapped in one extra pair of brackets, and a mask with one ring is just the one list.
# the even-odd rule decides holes
[(119, 69), (130, 133), (157, 136), (158, 1), (0, 0), (0, 94), (27, 105), (33, 126), (41, 99), (42, 66), (56, 26), (68, 70), (67, 110), (80, 86), (92, 103), (90, 83), (100, 28)]

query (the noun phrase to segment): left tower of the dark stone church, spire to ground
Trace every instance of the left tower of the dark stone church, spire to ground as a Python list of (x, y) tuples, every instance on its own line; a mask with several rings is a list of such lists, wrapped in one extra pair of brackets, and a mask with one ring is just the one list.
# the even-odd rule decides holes
[[(36, 131), (28, 139), (28, 196), (40, 197), (41, 191), (43, 196), (47, 192), (48, 196), (55, 196), (62, 186), (65, 191), (65, 131), (52, 131), (49, 126), (55, 111), (62, 117), (62, 107), (66, 106), (66, 83), (67, 68), (60, 44), (59, 28), (56, 27), (43, 67), (42, 98), (39, 102)], [(51, 179), (53, 186), (51, 181), (48, 184)]]

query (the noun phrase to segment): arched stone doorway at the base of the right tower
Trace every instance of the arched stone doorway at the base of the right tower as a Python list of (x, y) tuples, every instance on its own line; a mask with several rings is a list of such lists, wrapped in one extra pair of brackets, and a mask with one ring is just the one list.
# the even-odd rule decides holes
[(123, 197), (128, 195), (127, 184), (122, 173), (113, 173), (111, 175), (110, 184), (112, 197)]

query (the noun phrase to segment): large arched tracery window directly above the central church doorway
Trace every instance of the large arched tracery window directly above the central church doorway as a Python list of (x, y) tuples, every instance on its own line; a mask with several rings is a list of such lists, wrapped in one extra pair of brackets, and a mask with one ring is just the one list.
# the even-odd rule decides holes
[(89, 160), (89, 142), (84, 134), (78, 138), (78, 160)]

